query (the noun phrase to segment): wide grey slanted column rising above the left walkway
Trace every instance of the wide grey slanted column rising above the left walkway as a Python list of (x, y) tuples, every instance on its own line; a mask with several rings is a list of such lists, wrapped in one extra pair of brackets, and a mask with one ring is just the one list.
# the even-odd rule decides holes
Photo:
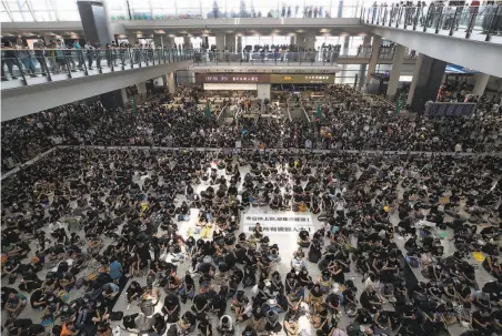
[(104, 2), (106, 1), (77, 1), (86, 40), (90, 41), (91, 44), (98, 42), (101, 47), (113, 41)]

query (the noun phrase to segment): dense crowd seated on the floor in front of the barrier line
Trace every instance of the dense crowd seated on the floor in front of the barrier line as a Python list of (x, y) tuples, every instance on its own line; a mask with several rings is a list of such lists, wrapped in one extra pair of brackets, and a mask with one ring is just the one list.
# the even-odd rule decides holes
[[(352, 336), (440, 335), (462, 323), (465, 335), (490, 335), (502, 322), (501, 163), (59, 149), (2, 183), (3, 326), (9, 335), (109, 336), (119, 325), (159, 336)], [(295, 233), (299, 248), (285, 254), (291, 243), (268, 226), (241, 232), (254, 206), (324, 224)], [(439, 231), (451, 233), (453, 255)], [(471, 253), (493, 275), (481, 288)], [(413, 285), (406, 263), (429, 282)]]

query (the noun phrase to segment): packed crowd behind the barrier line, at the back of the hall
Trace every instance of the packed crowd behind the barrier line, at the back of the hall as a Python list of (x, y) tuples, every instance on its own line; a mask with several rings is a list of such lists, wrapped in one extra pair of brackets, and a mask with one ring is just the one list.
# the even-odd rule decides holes
[(174, 95), (178, 104), (162, 98), (138, 113), (79, 102), (2, 122), (2, 171), (57, 144), (485, 152), (501, 135), (498, 115), (406, 119), (344, 85), (327, 86), (322, 101), (297, 98), (310, 122), (260, 118), (220, 124), (217, 113), (198, 108), (200, 86), (179, 88)]

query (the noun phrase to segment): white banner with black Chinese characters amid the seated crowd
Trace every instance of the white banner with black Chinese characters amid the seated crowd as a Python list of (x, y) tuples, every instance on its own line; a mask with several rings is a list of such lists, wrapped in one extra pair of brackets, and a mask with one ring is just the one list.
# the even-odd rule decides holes
[(281, 215), (281, 214), (245, 214), (243, 216), (243, 232), (251, 233), (257, 223), (263, 228), (263, 234), (291, 233), (298, 235), (302, 230), (311, 234), (315, 232), (310, 215)]

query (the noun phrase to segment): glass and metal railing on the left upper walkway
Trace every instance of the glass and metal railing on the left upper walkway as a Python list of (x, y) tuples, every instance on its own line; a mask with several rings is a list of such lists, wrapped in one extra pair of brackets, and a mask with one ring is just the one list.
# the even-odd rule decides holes
[(193, 59), (180, 49), (2, 49), (2, 89)]

